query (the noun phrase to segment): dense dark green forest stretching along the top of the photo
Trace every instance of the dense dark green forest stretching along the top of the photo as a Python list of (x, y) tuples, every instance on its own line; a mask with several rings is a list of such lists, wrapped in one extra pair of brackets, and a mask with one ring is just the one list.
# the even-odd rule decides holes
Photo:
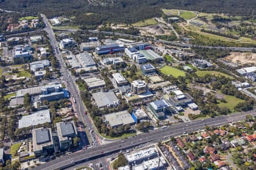
[(254, 0), (114, 0), (106, 5), (93, 5), (85, 0), (0, 0), (6, 10), (41, 12), (48, 17), (75, 16), (80, 25), (97, 25), (104, 22), (134, 23), (138, 20), (160, 16), (160, 8), (179, 8), (201, 12), (231, 15), (254, 15)]

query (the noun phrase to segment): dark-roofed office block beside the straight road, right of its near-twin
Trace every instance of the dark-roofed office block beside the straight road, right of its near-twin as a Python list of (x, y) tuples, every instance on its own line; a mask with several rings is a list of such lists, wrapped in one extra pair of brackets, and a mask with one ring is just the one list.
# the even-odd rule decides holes
[(58, 122), (56, 123), (56, 129), (61, 150), (67, 150), (72, 145), (72, 138), (77, 136), (75, 123), (73, 121)]

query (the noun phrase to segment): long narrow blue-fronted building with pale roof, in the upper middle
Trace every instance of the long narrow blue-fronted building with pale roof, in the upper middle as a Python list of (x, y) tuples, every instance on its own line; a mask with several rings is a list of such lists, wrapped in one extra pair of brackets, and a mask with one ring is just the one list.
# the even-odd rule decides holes
[(108, 54), (108, 53), (119, 52), (124, 49), (125, 49), (125, 46), (123, 46), (122, 44), (101, 45), (96, 47), (96, 53)]

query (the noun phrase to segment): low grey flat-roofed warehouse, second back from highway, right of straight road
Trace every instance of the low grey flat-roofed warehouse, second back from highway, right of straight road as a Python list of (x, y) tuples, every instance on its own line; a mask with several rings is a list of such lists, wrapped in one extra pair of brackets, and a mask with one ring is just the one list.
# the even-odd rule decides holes
[(113, 91), (100, 91), (92, 94), (92, 96), (99, 108), (117, 107), (120, 104), (120, 101), (117, 99), (117, 96), (115, 96)]

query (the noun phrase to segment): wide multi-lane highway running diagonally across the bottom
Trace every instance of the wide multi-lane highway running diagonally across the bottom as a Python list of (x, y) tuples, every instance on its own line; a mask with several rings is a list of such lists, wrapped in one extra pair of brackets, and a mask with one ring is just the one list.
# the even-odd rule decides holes
[(203, 130), (205, 126), (221, 126), (224, 124), (228, 124), (230, 122), (241, 121), (245, 119), (246, 114), (252, 114), (253, 116), (256, 115), (255, 111), (251, 111), (230, 114), (227, 116), (215, 118), (207, 118), (204, 121), (196, 120), (191, 122), (183, 122), (180, 124), (172, 125), (166, 129), (157, 129), (151, 131), (150, 133), (141, 134), (135, 137), (124, 139), (124, 142), (116, 141), (113, 143), (109, 143), (108, 145), (100, 145), (88, 148), (87, 150), (82, 150), (80, 152), (64, 156), (62, 158), (51, 160), (46, 164), (35, 167), (34, 169), (64, 169), (72, 167), (76, 163), (86, 162), (89, 159), (93, 158), (100, 158), (101, 156), (108, 155), (112, 152), (126, 150), (127, 148), (142, 145), (143, 143), (163, 141), (164, 139), (167, 139), (172, 136), (175, 137), (183, 133), (190, 133), (192, 131)]

